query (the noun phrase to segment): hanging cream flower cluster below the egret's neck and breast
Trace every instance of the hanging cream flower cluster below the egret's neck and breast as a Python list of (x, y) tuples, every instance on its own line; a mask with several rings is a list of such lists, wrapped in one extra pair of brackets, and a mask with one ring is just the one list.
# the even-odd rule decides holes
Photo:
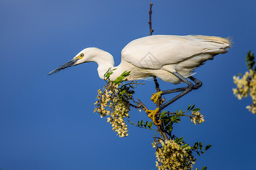
[(133, 97), (126, 93), (120, 95), (121, 90), (114, 82), (108, 82), (103, 92), (98, 90), (94, 112), (100, 113), (101, 117), (110, 116), (107, 122), (112, 124), (112, 130), (117, 132), (119, 137), (127, 137), (127, 125), (123, 119), (129, 117), (130, 105), (126, 101)]

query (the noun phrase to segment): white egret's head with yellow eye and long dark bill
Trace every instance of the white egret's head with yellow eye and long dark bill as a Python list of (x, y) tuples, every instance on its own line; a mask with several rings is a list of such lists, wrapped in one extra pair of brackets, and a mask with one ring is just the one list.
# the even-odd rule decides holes
[(98, 55), (98, 53), (97, 53), (98, 50), (100, 50), (100, 49), (97, 49), (97, 48), (86, 48), (86, 49), (83, 49), (71, 61), (65, 63), (64, 65), (61, 65), (61, 66), (57, 67), (57, 69), (51, 71), (47, 75), (51, 75), (53, 73), (57, 73), (58, 71), (61, 71), (63, 69), (71, 67), (71, 66), (80, 65), (81, 63), (84, 63), (84, 62), (95, 61), (94, 57), (96, 57)]

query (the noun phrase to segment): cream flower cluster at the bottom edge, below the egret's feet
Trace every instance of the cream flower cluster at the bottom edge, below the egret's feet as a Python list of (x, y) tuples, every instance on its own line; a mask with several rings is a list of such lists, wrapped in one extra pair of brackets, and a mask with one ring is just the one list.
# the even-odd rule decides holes
[[(160, 147), (158, 145), (161, 145)], [(189, 152), (190, 146), (182, 147), (174, 140), (163, 141), (158, 139), (152, 143), (156, 147), (156, 167), (161, 169), (192, 169), (195, 160)]]

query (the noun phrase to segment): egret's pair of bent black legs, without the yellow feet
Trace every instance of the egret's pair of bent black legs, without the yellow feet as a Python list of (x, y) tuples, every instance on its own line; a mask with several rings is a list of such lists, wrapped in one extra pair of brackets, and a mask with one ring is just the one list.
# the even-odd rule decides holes
[(160, 105), (159, 111), (162, 111), (162, 109), (164, 109), (168, 105), (174, 103), (174, 101), (176, 101), (180, 97), (184, 96), (185, 94), (188, 94), (192, 90), (199, 89), (202, 86), (202, 83), (199, 80), (197, 80), (196, 78), (194, 78), (193, 76), (190, 76), (189, 79), (191, 79), (193, 82), (195, 82), (196, 83), (195, 85), (192, 84), (191, 82), (189, 82), (187, 79), (184, 78), (184, 76), (180, 75), (177, 72), (174, 72), (172, 74), (174, 74), (177, 78), (179, 78), (183, 82), (185, 82), (188, 85), (188, 87), (181, 87), (181, 88), (175, 88), (175, 89), (172, 89), (172, 90), (164, 90), (164, 91), (162, 91), (162, 93), (159, 96), (166, 95), (166, 94), (171, 94), (171, 93), (174, 93), (174, 92), (180, 92), (180, 91), (182, 91), (182, 92), (179, 95), (177, 95), (174, 98), (172, 98), (171, 100), (167, 101), (166, 103)]

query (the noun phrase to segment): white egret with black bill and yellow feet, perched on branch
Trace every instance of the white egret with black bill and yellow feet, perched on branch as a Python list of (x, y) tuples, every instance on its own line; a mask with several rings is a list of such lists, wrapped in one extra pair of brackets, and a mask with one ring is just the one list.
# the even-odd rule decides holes
[[(154, 118), (156, 112), (161, 111), (191, 90), (199, 88), (201, 82), (191, 76), (193, 70), (208, 59), (213, 59), (217, 54), (226, 53), (229, 47), (230, 41), (221, 37), (153, 35), (133, 40), (127, 44), (122, 50), (121, 63), (116, 67), (114, 67), (114, 59), (110, 53), (98, 48), (86, 48), (71, 61), (51, 71), (48, 75), (84, 62), (96, 62), (101, 79), (104, 79), (104, 74), (111, 67), (116, 70), (113, 71), (110, 80), (115, 80), (124, 71), (131, 71), (127, 76), (128, 80), (157, 76), (165, 82), (187, 83), (187, 87), (153, 94), (152, 100), (156, 101), (160, 95), (182, 91), (170, 101), (160, 105), (155, 111), (148, 111), (151, 112), (148, 116)], [(196, 84), (193, 85), (186, 78)], [(157, 124), (155, 118), (154, 123)]]

